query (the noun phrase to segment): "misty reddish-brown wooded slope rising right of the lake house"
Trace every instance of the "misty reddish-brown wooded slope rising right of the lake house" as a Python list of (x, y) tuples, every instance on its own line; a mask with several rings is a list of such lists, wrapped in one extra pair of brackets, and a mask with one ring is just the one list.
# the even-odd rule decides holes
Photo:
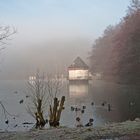
[(132, 0), (120, 23), (105, 29), (89, 59), (92, 73), (119, 83), (140, 84), (140, 0)]

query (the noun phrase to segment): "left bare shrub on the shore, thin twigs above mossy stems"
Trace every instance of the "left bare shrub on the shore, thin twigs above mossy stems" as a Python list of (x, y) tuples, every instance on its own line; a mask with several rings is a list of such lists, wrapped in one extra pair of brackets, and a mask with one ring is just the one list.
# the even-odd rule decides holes
[(44, 76), (36, 74), (33, 81), (27, 83), (27, 94), (29, 95), (30, 102), (28, 103), (27, 111), (32, 117), (36, 119), (36, 128), (45, 126), (44, 112), (47, 106), (47, 86)]

